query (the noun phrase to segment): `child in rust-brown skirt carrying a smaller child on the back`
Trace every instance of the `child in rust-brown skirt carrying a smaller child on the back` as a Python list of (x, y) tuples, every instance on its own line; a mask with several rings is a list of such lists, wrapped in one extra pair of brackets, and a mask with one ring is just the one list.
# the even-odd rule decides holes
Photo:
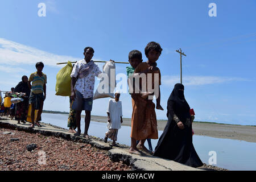
[[(142, 73), (146, 74), (146, 81), (140, 82), (139, 88), (143, 88), (146, 85), (146, 92), (148, 88), (158, 89), (158, 96), (156, 96), (156, 109), (163, 110), (163, 107), (160, 105), (160, 85), (161, 85), (161, 75), (160, 70), (157, 67), (154, 67), (155, 62), (158, 60), (162, 48), (158, 43), (150, 42), (145, 48), (145, 54), (147, 56), (147, 62), (141, 63), (137, 66), (134, 71), (134, 77), (140, 76)], [(152, 74), (152, 84), (147, 85), (148, 73)], [(156, 75), (157, 74), (157, 75)], [(154, 78), (158, 76), (157, 84), (155, 85)], [(156, 87), (156, 88), (155, 88)], [(142, 90), (144, 91), (144, 90)], [(152, 93), (155, 94), (156, 93)], [(139, 94), (137, 97), (132, 98), (133, 103), (133, 115), (131, 117), (131, 138), (132, 144), (130, 148), (131, 154), (138, 154), (138, 149), (143, 150), (144, 152), (150, 153), (147, 148), (144, 146), (144, 142), (147, 138), (158, 139), (158, 130), (157, 130), (157, 121), (155, 114), (155, 104), (152, 100), (148, 98), (143, 98)], [(134, 146), (133, 140), (141, 140), (137, 146)], [(136, 143), (135, 143), (136, 144)]]

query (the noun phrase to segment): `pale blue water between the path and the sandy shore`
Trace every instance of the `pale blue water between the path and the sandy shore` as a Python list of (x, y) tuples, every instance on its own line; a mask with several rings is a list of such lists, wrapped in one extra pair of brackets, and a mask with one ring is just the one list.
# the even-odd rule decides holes
[[(42, 122), (51, 123), (52, 125), (67, 127), (67, 114), (42, 114)], [(81, 130), (84, 132), (84, 118), (81, 119)], [(106, 123), (90, 122), (89, 135), (104, 138), (106, 131)], [(118, 131), (117, 142), (130, 146), (131, 127), (122, 126)], [(158, 131), (159, 137), (163, 131)], [(153, 150), (158, 140), (151, 140)], [(230, 170), (256, 170), (256, 143), (245, 142), (232, 139), (220, 139), (203, 136), (193, 136), (193, 144), (196, 148), (197, 154), (203, 163), (208, 164), (210, 151), (215, 151), (217, 154), (216, 166), (230, 169)], [(147, 142), (145, 142), (147, 146)], [(147, 146), (148, 147), (148, 146)]]

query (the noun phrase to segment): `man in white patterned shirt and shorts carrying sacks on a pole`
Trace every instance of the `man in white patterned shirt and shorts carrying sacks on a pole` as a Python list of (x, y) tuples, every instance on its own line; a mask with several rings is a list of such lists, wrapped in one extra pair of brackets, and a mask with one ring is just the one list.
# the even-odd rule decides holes
[[(81, 134), (81, 112), (85, 110), (85, 130), (84, 137), (88, 138), (90, 125), (90, 113), (93, 104), (93, 90), (95, 77), (101, 77), (101, 71), (97, 64), (92, 60), (94, 50), (92, 47), (85, 47), (84, 59), (77, 61), (74, 65), (71, 77), (71, 99), (73, 100), (72, 109), (76, 110), (77, 133)], [(113, 61), (113, 60), (110, 60)]]

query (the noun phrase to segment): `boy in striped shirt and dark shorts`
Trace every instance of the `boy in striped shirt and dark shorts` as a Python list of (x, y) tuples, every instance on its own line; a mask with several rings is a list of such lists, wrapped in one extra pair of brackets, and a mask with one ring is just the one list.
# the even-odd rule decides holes
[[(32, 73), (30, 78), (28, 79), (28, 86), (31, 89), (29, 104), (31, 104), (31, 121), (32, 125), (30, 127), (42, 127), (39, 123), (42, 111), (44, 100), (46, 100), (46, 83), (47, 77), (42, 72), (44, 68), (44, 64), (42, 62), (36, 63), (37, 72)], [(32, 82), (32, 85), (31, 85)], [(44, 94), (43, 94), (44, 93)], [(38, 111), (38, 117), (35, 118), (35, 110)]]

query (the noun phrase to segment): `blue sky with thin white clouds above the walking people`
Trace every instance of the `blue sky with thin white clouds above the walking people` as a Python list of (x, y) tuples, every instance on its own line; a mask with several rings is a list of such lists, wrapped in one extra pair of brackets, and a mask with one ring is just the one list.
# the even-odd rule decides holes
[[(209, 3), (217, 17), (210, 17)], [(46, 17), (38, 4), (46, 4)], [(148, 42), (163, 48), (158, 60), (162, 73), (162, 106), (179, 82), (183, 49), (185, 98), (197, 121), (255, 125), (256, 2), (247, 1), (1, 1), (0, 89), (10, 90), (23, 75), (43, 61), (48, 77), (46, 110), (69, 110), (69, 98), (55, 96), (56, 63), (83, 58), (86, 46), (94, 60), (127, 61)], [(102, 69), (102, 64), (99, 64)], [(117, 73), (126, 65), (116, 64)], [(118, 82), (118, 81), (117, 81)], [(96, 82), (97, 86), (98, 81)], [(106, 115), (109, 98), (95, 100), (92, 114)], [(129, 94), (121, 94), (123, 117), (131, 117)]]

